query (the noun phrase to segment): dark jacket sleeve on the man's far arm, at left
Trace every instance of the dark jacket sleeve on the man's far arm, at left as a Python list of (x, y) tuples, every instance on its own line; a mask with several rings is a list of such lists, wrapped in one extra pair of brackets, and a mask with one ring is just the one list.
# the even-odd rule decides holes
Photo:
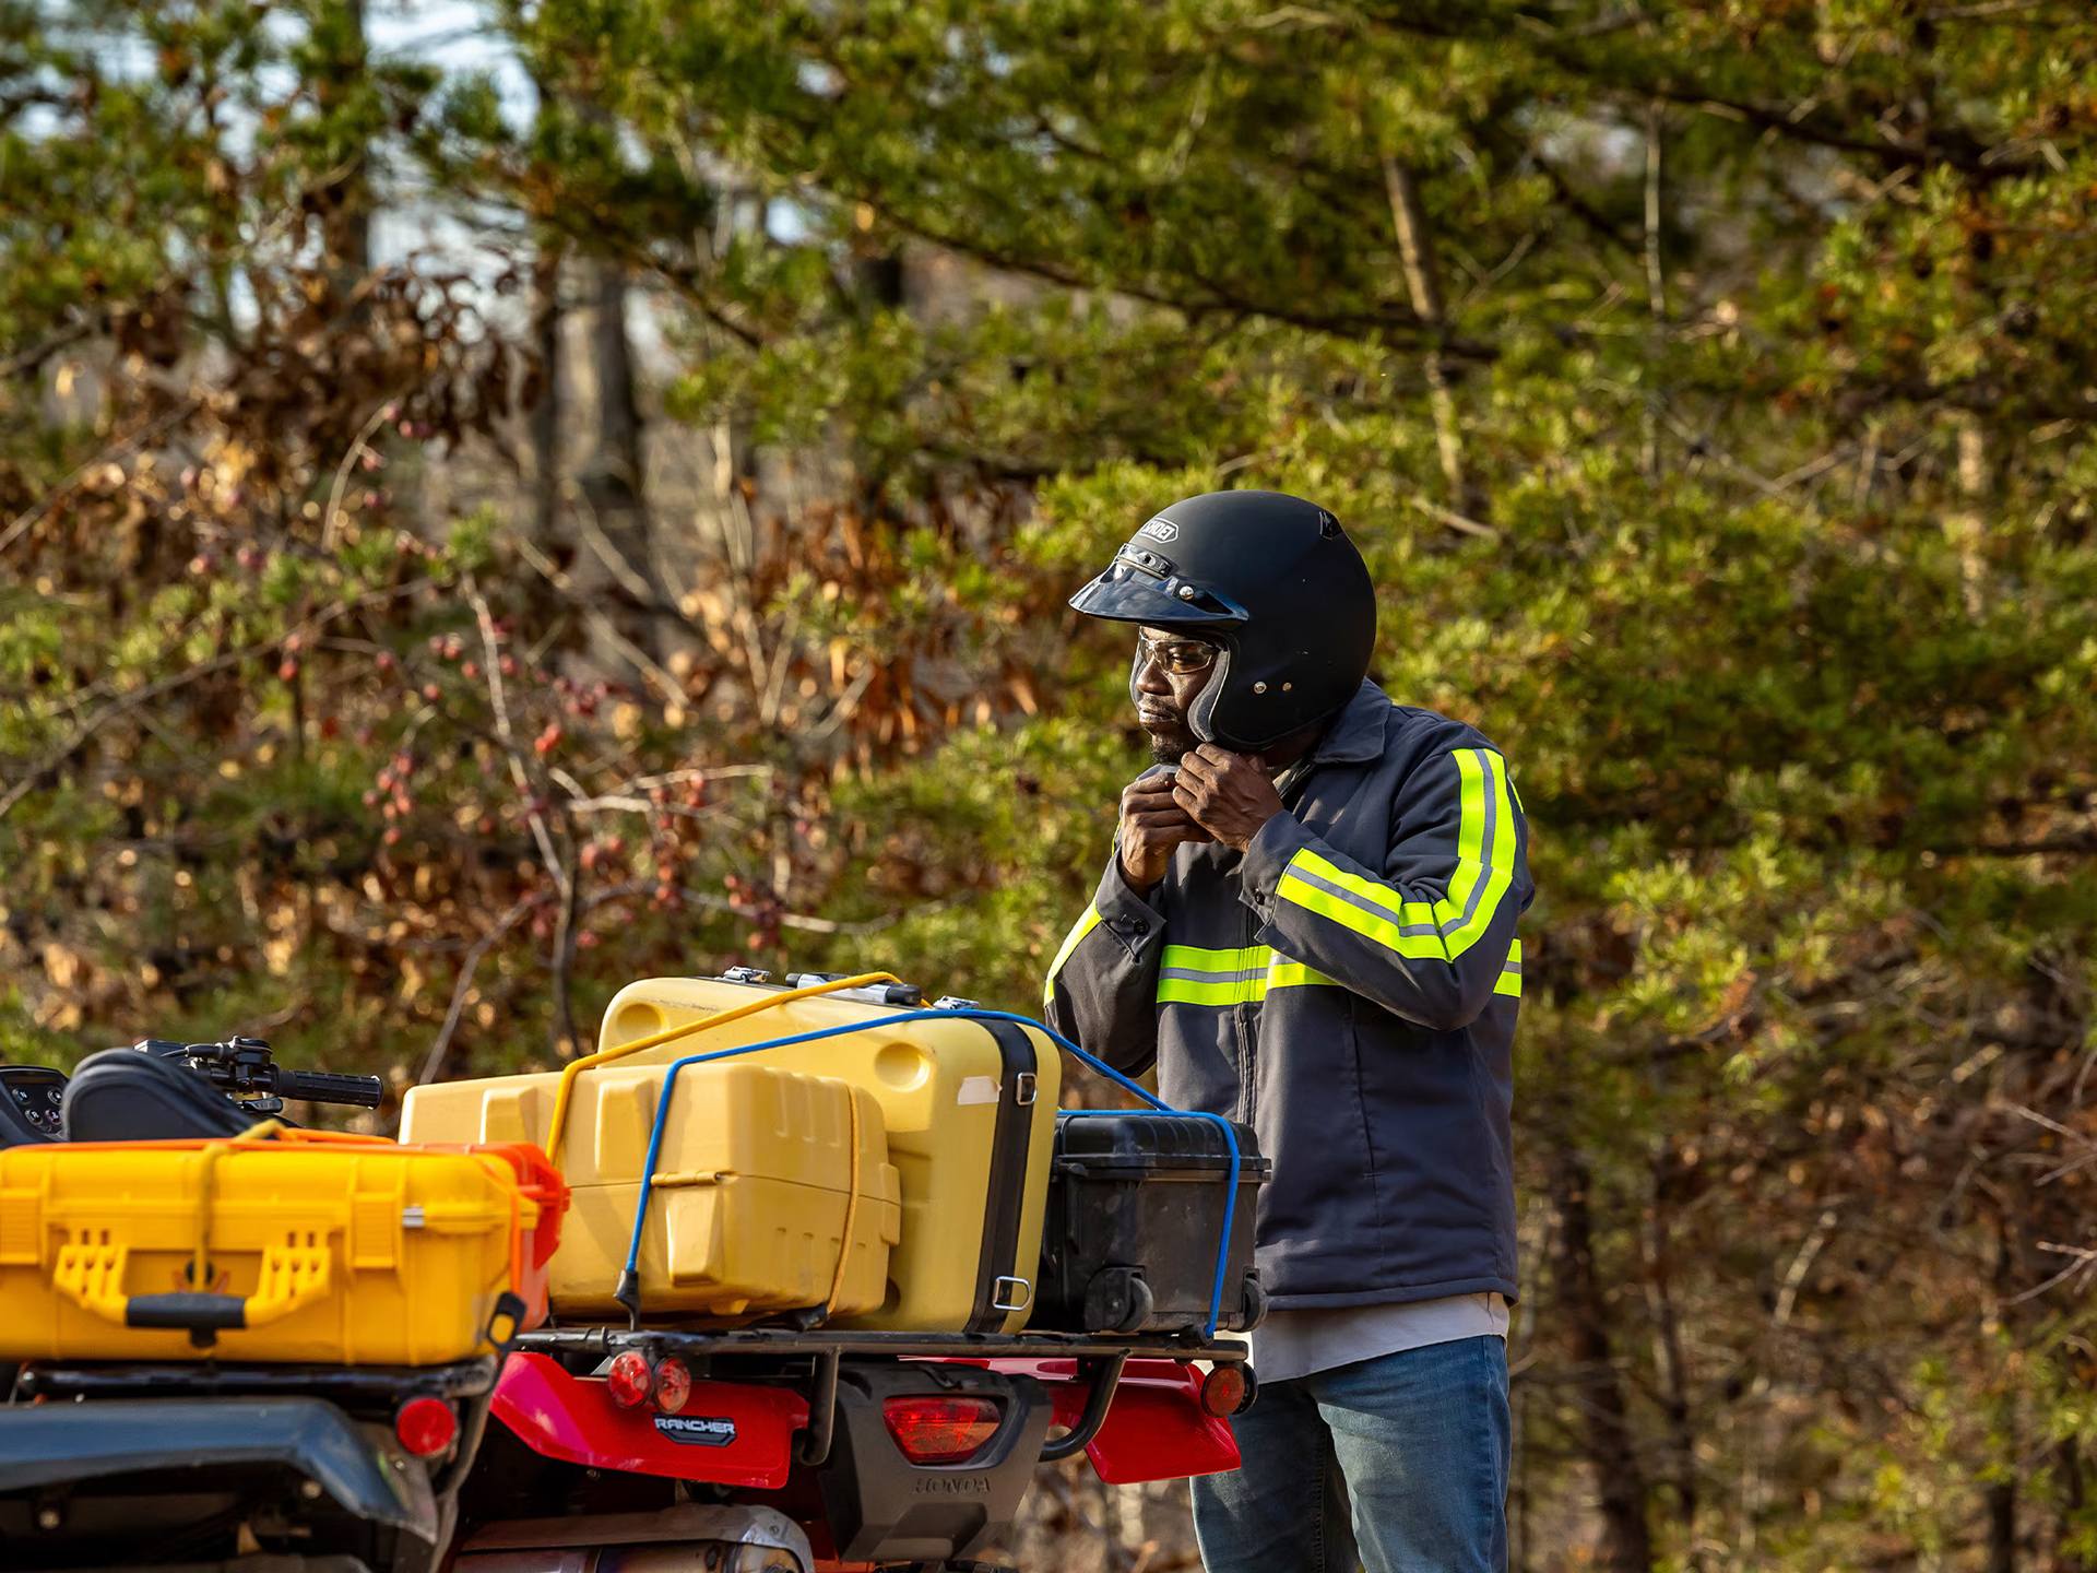
[(1149, 1070), (1158, 1059), (1164, 935), (1164, 914), (1130, 889), (1116, 854), (1093, 904), (1048, 963), (1042, 990), (1048, 1026), (1120, 1072)]

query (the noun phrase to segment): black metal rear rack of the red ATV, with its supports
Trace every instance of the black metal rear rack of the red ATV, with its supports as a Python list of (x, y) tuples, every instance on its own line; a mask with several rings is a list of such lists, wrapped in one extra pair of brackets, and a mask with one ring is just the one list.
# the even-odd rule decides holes
[[(1090, 1382), (1078, 1424), (1042, 1447), (1042, 1462), (1074, 1458), (1107, 1424), (1107, 1409), (1130, 1359), (1170, 1359), (1181, 1365), (1210, 1361), (1241, 1365), (1246, 1393), (1256, 1391), (1252, 1349), (1195, 1332), (851, 1332), (841, 1328), (539, 1328), (522, 1332), (510, 1344), (531, 1355), (566, 1361), (602, 1361), (627, 1349), (637, 1349), (650, 1363), (677, 1355), (694, 1363), (694, 1376), (715, 1359), (809, 1359), (807, 1432), (795, 1443), (795, 1462), (816, 1466), (830, 1458), (830, 1432), (837, 1420), (837, 1370), (845, 1355), (891, 1359), (1076, 1359), (1078, 1378)], [(696, 1361), (702, 1361), (696, 1363)]]

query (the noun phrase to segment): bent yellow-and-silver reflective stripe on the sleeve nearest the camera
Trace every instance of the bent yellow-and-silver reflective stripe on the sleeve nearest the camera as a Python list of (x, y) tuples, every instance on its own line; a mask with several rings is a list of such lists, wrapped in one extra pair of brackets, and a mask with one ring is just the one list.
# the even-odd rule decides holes
[(1514, 885), (1514, 812), (1508, 766), (1491, 749), (1460, 749), (1457, 856), (1449, 893), (1409, 902), (1304, 847), (1290, 858), (1275, 893), (1415, 961), (1455, 961), (1491, 927)]

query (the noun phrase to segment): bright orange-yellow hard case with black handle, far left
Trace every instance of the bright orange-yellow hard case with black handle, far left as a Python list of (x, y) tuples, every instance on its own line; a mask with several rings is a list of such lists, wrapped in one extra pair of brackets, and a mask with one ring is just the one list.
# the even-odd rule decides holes
[[(552, 1177), (547, 1177), (552, 1179)], [(558, 1187), (556, 1187), (558, 1189)], [(545, 1214), (545, 1216), (541, 1216)], [(524, 1315), (558, 1198), (394, 1143), (0, 1149), (0, 1361), (432, 1365)]]

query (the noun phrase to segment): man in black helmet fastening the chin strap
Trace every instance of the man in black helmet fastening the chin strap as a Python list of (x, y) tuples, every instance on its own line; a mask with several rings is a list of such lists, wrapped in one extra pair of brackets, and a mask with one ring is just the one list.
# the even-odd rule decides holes
[(1244, 1466), (1193, 1483), (1208, 1573), (1506, 1567), (1510, 1047), (1522, 810), (1468, 726), (1365, 682), (1376, 591), (1338, 520), (1220, 491), (1072, 606), (1137, 625), (1158, 768), (1122, 793), (1048, 1021), (1254, 1126), (1273, 1313)]

